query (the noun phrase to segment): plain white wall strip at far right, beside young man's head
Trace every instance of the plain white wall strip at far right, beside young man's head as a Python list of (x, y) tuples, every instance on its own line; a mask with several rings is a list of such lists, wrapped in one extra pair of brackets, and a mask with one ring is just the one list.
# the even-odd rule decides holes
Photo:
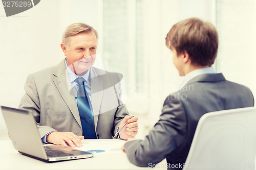
[(217, 71), (256, 95), (256, 1), (217, 1)]

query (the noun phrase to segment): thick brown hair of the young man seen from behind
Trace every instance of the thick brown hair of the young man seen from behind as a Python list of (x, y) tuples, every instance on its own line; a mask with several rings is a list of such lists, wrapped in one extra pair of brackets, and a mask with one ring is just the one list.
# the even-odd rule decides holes
[(166, 46), (174, 47), (178, 55), (186, 51), (193, 65), (210, 66), (217, 57), (218, 32), (211, 23), (199, 18), (188, 18), (176, 23), (165, 40)]

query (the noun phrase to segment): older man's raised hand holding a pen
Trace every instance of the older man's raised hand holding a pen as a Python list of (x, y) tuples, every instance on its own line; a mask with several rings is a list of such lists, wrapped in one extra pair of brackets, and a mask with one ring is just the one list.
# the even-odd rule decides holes
[(128, 124), (119, 132), (120, 138), (123, 140), (127, 140), (129, 138), (134, 138), (135, 135), (138, 133), (138, 117), (134, 116), (125, 116), (122, 119), (122, 122), (119, 126), (119, 129), (123, 127), (123, 125), (128, 122)]

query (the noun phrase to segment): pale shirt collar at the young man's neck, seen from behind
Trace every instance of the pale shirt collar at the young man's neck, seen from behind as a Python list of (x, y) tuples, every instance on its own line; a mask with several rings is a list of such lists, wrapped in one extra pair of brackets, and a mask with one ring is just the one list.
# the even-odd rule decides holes
[(199, 75), (203, 75), (203, 74), (216, 74), (216, 70), (214, 69), (214, 67), (206, 67), (206, 68), (200, 68), (200, 69), (191, 71), (186, 76), (184, 76), (184, 78), (181, 80), (181, 82), (179, 84), (179, 88), (181, 89), (182, 87), (185, 86), (185, 84), (188, 81), (190, 81), (191, 79), (193, 79)]

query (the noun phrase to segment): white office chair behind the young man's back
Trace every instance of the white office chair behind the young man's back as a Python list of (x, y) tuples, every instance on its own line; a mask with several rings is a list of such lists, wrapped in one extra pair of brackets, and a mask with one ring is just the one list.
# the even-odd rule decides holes
[(256, 108), (204, 114), (198, 123), (185, 166), (187, 169), (254, 169)]

